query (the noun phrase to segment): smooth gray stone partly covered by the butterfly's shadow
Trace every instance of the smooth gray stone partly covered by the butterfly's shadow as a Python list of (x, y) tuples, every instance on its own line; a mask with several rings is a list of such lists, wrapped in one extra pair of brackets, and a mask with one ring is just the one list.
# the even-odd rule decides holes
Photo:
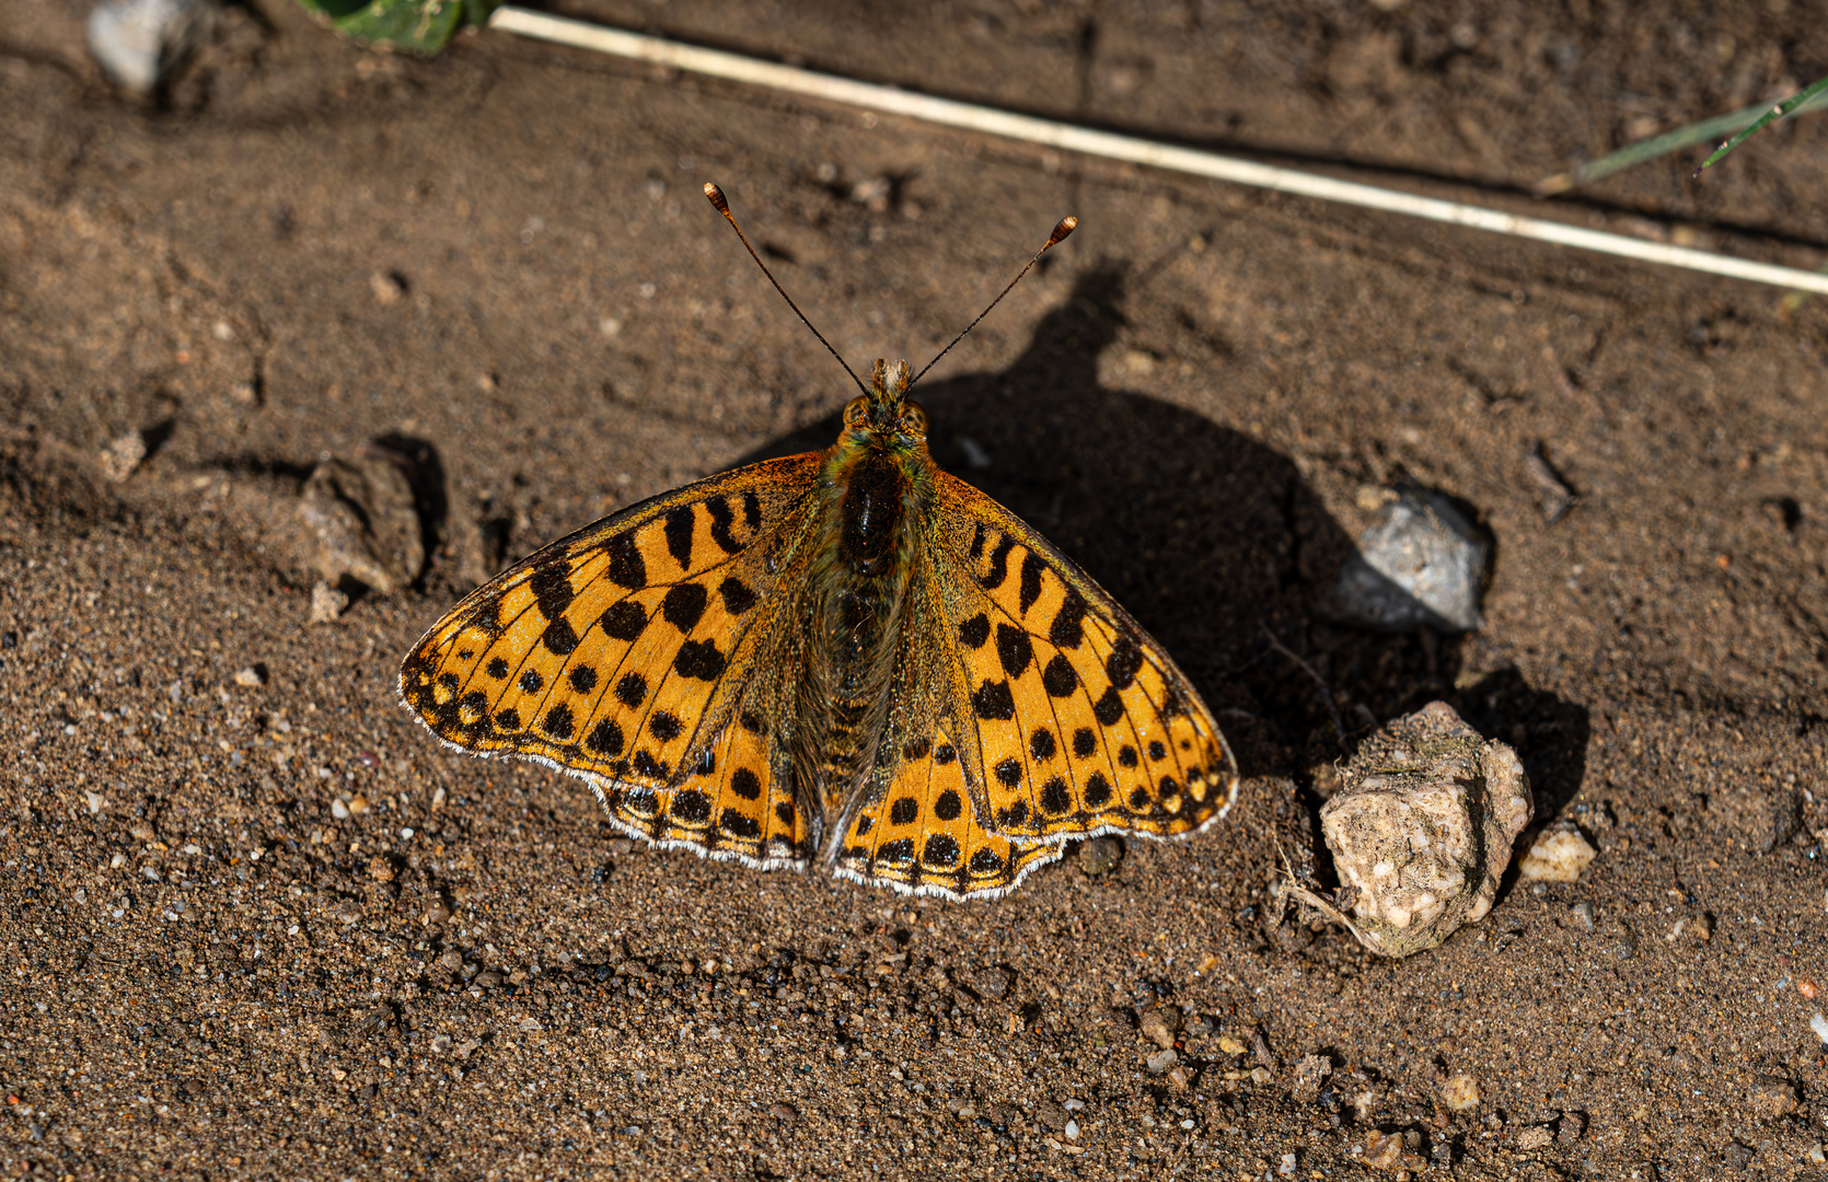
[(1446, 497), (1406, 488), (1358, 535), (1323, 607), (1362, 628), (1472, 632), (1484, 623), (1490, 557), (1492, 543)]

